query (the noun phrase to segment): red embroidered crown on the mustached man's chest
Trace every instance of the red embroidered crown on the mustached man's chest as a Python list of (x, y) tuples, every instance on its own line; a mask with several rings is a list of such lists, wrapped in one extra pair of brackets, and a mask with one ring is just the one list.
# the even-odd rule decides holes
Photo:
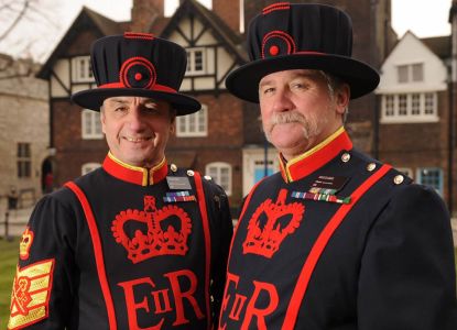
[[(272, 257), (284, 239), (300, 226), (305, 207), (300, 202), (285, 204), (287, 190), (282, 189), (275, 204), (269, 198), (252, 215), (248, 234), (242, 243), (244, 254), (253, 253)], [(262, 216), (266, 218), (261, 226)]]

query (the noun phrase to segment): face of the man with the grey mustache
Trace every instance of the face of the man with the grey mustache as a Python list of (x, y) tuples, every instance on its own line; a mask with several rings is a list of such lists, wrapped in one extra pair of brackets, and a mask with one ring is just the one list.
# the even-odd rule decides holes
[(317, 70), (278, 72), (260, 81), (259, 100), (268, 141), (290, 160), (342, 125), (349, 87), (344, 84), (330, 94), (327, 79)]

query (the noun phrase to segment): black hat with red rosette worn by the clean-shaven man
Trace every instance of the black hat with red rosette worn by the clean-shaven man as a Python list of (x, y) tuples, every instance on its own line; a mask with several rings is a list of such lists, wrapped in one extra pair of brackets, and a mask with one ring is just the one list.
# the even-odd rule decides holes
[(90, 59), (98, 88), (72, 96), (84, 108), (99, 111), (104, 100), (115, 96), (168, 101), (177, 116), (202, 108), (196, 99), (177, 92), (187, 56), (175, 43), (146, 33), (105, 36), (93, 44)]

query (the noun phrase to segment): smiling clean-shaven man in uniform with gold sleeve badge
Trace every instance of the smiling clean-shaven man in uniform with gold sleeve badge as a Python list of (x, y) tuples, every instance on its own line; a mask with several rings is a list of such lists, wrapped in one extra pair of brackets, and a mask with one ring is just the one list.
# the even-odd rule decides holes
[(232, 234), (227, 196), (165, 158), (175, 117), (200, 108), (177, 91), (186, 53), (126, 33), (96, 41), (91, 64), (98, 88), (72, 99), (101, 111), (109, 153), (37, 204), (9, 329), (211, 329)]

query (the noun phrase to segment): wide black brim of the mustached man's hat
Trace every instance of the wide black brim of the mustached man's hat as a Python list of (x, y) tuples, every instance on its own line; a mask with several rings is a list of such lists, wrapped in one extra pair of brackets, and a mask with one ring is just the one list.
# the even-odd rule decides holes
[(272, 73), (290, 69), (318, 69), (339, 77), (350, 86), (350, 98), (369, 94), (379, 84), (379, 74), (368, 64), (327, 54), (292, 54), (248, 63), (231, 72), (227, 89), (240, 99), (259, 103), (259, 82)]

